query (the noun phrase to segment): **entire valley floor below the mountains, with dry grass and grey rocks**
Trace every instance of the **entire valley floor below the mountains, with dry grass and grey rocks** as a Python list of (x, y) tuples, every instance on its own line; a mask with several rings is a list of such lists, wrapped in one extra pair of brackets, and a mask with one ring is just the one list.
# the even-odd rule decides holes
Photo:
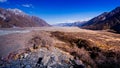
[(77, 27), (0, 30), (0, 68), (120, 68), (120, 34)]

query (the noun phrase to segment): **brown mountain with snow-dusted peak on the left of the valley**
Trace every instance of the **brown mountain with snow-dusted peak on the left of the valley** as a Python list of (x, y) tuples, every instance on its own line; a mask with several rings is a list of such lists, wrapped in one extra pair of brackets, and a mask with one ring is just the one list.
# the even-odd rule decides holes
[(44, 20), (29, 16), (19, 9), (0, 8), (0, 28), (50, 26)]

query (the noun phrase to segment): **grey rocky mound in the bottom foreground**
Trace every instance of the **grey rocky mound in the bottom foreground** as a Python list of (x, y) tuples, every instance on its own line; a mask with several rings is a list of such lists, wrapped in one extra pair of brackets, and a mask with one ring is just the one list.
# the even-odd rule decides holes
[[(51, 50), (52, 49), (52, 50)], [(21, 58), (13, 60), (6, 67), (11, 68), (70, 68), (70, 59), (73, 57), (58, 48), (52, 47), (50, 50), (43, 47), (35, 52), (23, 53)], [(66, 62), (67, 61), (67, 62)], [(82, 67), (78, 58), (71, 60), (73, 68)], [(77, 68), (76, 67), (76, 68)]]

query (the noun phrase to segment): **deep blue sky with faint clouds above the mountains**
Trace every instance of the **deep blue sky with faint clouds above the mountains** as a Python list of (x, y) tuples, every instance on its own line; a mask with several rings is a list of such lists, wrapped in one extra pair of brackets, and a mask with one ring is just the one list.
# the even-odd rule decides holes
[(87, 21), (120, 6), (120, 0), (0, 0), (0, 8), (17, 8), (49, 24)]

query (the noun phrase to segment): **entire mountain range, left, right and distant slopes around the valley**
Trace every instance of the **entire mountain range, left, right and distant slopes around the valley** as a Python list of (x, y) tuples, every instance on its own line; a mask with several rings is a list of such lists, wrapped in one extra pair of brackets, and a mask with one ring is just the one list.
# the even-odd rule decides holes
[[(42, 26), (50, 25), (39, 17), (30, 16), (19, 9), (0, 8), (0, 28)], [(89, 21), (60, 23), (54, 26), (77, 26), (83, 29), (109, 30), (120, 33), (120, 7), (117, 7), (110, 12), (104, 12)]]

